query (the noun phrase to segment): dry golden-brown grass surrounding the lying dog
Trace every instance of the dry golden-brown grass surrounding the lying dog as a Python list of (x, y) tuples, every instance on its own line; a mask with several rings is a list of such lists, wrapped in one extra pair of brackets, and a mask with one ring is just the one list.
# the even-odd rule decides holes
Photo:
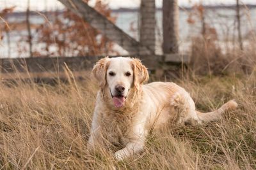
[(201, 127), (167, 125), (145, 152), (116, 162), (114, 151), (86, 150), (97, 87), (90, 80), (55, 87), (0, 86), (0, 166), (3, 169), (255, 169), (256, 78), (194, 77), (177, 81), (201, 111), (236, 99), (239, 109)]

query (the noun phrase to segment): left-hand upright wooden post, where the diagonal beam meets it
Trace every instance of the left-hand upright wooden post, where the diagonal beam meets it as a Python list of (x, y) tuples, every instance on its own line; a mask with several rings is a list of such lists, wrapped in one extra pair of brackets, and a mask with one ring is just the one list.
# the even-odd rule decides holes
[(156, 46), (156, 4), (155, 0), (141, 0), (140, 43), (155, 52)]

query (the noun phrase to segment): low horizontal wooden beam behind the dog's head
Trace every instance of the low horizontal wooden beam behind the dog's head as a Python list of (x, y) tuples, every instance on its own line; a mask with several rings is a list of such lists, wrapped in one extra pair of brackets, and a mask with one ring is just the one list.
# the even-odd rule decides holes
[[(115, 56), (114, 56), (115, 57)], [(102, 57), (33, 57), (24, 59), (0, 59), (1, 73), (13, 72), (58, 72), (63, 71), (65, 63), (72, 71), (83, 71), (92, 69), (93, 65)], [(141, 55), (140, 59), (148, 69), (159, 66), (162, 56)]]

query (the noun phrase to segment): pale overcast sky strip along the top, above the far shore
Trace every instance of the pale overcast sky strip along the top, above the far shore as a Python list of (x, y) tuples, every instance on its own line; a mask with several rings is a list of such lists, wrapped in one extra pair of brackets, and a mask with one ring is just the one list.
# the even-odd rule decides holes
[[(95, 0), (91, 0), (93, 4)], [(135, 8), (140, 6), (140, 0), (103, 0), (108, 2), (110, 8)], [(235, 4), (236, 0), (178, 0), (180, 6), (191, 6), (191, 4), (202, 1), (204, 4)], [(26, 9), (28, 0), (0, 0), (0, 10), (5, 7), (16, 6), (17, 11), (24, 11)], [(256, 4), (256, 0), (241, 0), (242, 3)], [(156, 6), (159, 7), (162, 0), (156, 0)], [(63, 5), (57, 0), (30, 0), (31, 10), (42, 11), (63, 9)]]

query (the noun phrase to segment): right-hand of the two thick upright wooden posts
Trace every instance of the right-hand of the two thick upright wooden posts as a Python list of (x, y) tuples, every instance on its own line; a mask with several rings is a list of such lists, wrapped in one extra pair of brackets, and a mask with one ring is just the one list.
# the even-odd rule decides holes
[(179, 53), (178, 0), (163, 0), (163, 53)]

